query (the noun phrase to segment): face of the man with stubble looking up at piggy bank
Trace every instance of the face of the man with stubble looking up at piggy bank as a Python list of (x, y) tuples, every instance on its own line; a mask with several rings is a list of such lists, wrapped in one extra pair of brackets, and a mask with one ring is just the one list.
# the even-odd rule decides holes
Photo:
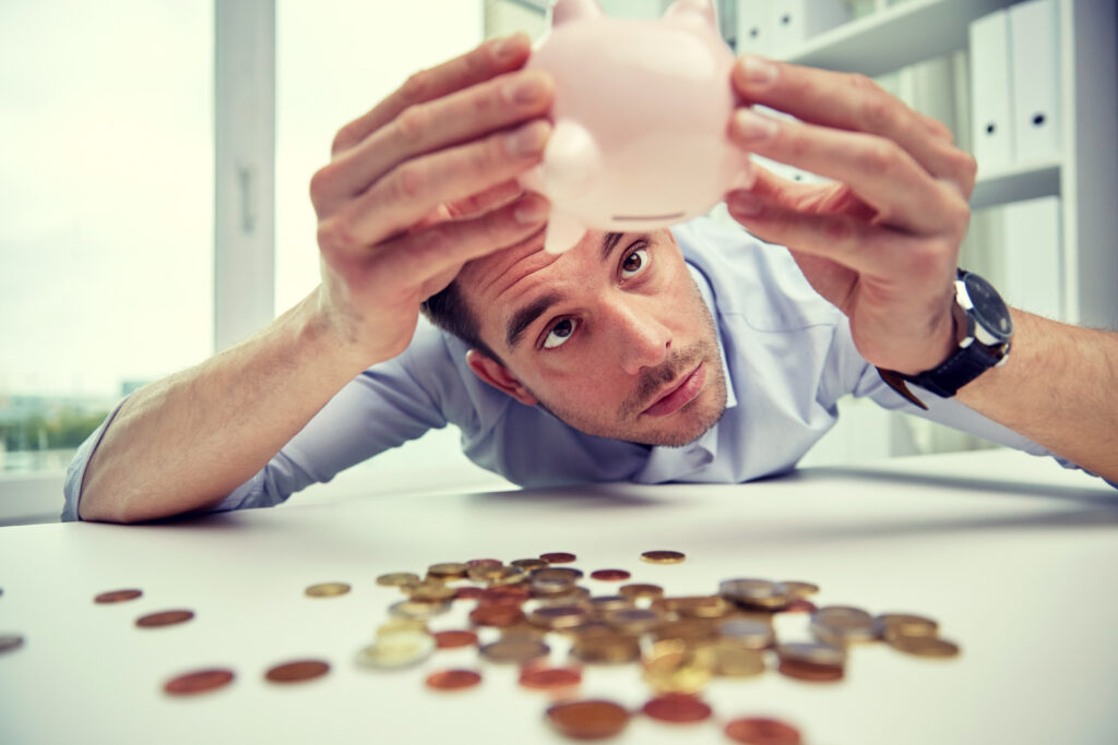
[(666, 230), (588, 232), (566, 254), (542, 233), (472, 261), (457, 281), (481, 337), (486, 382), (589, 434), (682, 446), (726, 408), (710, 312)]

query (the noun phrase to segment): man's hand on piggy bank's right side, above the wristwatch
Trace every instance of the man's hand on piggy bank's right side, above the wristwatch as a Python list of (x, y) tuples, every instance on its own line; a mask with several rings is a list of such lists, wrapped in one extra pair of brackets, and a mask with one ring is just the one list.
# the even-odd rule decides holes
[(850, 318), (870, 363), (909, 374), (940, 364), (957, 343), (953, 283), (974, 159), (944, 124), (861, 75), (745, 55), (732, 80), (743, 106), (731, 139), (834, 182), (796, 183), (757, 168), (752, 189), (728, 195), (730, 214), (792, 250), (808, 281)]

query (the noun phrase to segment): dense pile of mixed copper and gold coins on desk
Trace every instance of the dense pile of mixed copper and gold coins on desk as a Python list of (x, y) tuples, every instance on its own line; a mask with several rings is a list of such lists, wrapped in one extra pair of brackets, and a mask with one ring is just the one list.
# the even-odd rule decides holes
[[(653, 551), (642, 560), (679, 563), (684, 555)], [(923, 617), (817, 608), (808, 598), (819, 589), (808, 582), (732, 579), (717, 593), (685, 596), (665, 595), (659, 585), (624, 584), (616, 594), (593, 595), (579, 584), (581, 570), (561, 566), (575, 561), (574, 554), (550, 553), (508, 564), (494, 558), (434, 564), (424, 576), (385, 574), (378, 584), (398, 588), (406, 599), (388, 608), (389, 621), (357, 653), (357, 662), (399, 669), (438, 649), (476, 646), (482, 660), (519, 666), (525, 688), (559, 691), (546, 719), (557, 732), (586, 739), (618, 734), (634, 713), (614, 701), (578, 700), (582, 666), (639, 663), (652, 693), (639, 713), (679, 724), (711, 718), (701, 695), (717, 678), (752, 677), (775, 667), (796, 680), (833, 682), (843, 679), (851, 648), (878, 641), (918, 657), (958, 653)], [(589, 576), (624, 582), (631, 574), (608, 569)], [(473, 603), (470, 630), (429, 628), (459, 601)], [(779, 613), (805, 614), (812, 640), (781, 642), (774, 625)], [(567, 659), (550, 663), (563, 650)], [(426, 685), (459, 690), (481, 680), (477, 670), (451, 669), (432, 672)], [(800, 742), (795, 727), (765, 717), (733, 719), (723, 732), (739, 743)]]

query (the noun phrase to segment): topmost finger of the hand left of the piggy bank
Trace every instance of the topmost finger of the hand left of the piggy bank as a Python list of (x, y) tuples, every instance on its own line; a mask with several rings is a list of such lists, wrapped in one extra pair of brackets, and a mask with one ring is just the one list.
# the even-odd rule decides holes
[(523, 66), (531, 54), (527, 34), (492, 39), (461, 57), (409, 77), (369, 113), (350, 122), (334, 137), (331, 153), (348, 150), (399, 115), (408, 106), (445, 96)]

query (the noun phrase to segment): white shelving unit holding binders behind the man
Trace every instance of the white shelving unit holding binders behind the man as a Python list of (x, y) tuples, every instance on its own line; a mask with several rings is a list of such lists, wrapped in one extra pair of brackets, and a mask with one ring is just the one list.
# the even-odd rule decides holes
[[(749, 0), (742, 0), (748, 2)], [(966, 49), (972, 21), (1013, 0), (908, 0), (776, 56), (879, 76)], [(1063, 317), (1118, 327), (1118, 61), (1114, 0), (1058, 0), (1063, 152), (1055, 161), (978, 174), (974, 209), (1060, 197)]]

